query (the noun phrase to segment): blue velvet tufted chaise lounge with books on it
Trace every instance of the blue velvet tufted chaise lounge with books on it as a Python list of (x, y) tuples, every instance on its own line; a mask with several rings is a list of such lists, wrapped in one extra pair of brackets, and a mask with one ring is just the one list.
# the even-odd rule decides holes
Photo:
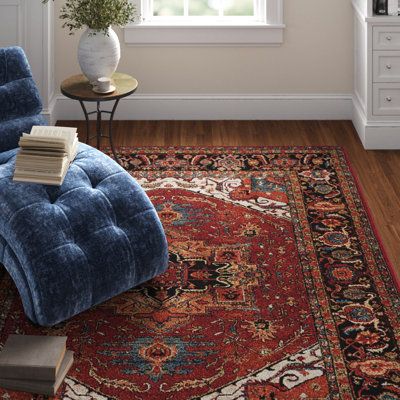
[(62, 186), (12, 181), (18, 139), (44, 124), (22, 49), (0, 49), (0, 264), (28, 318), (52, 326), (153, 278), (167, 242), (143, 189), (80, 144)]

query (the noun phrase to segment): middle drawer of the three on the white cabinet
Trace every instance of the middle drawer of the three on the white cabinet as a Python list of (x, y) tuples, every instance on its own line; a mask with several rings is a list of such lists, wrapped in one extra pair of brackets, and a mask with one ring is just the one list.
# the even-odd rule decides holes
[(400, 51), (374, 51), (374, 82), (400, 82)]

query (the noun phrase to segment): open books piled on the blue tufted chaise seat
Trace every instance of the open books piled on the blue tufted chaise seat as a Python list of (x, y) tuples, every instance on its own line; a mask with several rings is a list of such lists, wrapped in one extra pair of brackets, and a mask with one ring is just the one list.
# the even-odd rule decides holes
[(76, 128), (33, 126), (23, 133), (14, 181), (60, 186), (78, 149)]

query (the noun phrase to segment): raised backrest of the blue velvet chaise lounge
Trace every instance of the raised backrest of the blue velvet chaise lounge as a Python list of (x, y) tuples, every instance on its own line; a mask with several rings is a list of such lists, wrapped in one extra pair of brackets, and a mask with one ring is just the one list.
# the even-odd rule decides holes
[(0, 152), (17, 147), (23, 132), (44, 125), (42, 102), (20, 47), (0, 49)]

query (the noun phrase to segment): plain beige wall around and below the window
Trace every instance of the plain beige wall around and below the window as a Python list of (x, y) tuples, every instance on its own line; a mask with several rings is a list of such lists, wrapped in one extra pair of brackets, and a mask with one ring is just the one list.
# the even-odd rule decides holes
[[(139, 95), (350, 94), (351, 2), (284, 0), (284, 14), (287, 28), (278, 47), (131, 47), (119, 32), (119, 70), (138, 79)], [(60, 25), (57, 19), (56, 87), (79, 73), (79, 33), (68, 36)]]

